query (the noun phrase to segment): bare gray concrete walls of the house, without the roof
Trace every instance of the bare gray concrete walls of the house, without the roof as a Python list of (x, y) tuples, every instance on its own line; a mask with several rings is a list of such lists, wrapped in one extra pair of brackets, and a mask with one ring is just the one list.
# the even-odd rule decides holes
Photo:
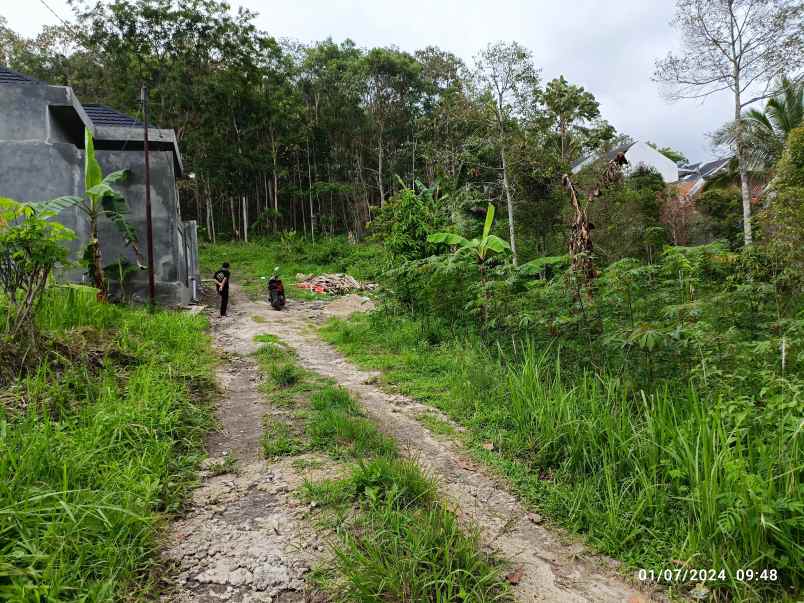
[[(84, 153), (63, 127), (64, 111), (72, 110), (71, 95), (69, 88), (59, 86), (0, 86), (0, 195), (20, 201), (83, 195)], [(71, 139), (73, 142), (68, 142)], [(97, 150), (96, 156), (104, 174), (130, 171), (128, 180), (117, 188), (128, 201), (128, 220), (137, 231), (142, 257), (147, 262), (144, 155), (132, 149)], [(152, 151), (149, 157), (157, 296), (162, 303), (183, 304), (190, 300), (191, 289), (174, 156), (170, 151)], [(74, 208), (60, 214), (58, 220), (76, 232), (77, 238), (69, 247), (72, 258), (78, 259), (89, 234), (86, 216)], [(99, 224), (99, 238), (105, 266), (121, 259), (136, 265), (134, 252), (105, 218)], [(81, 281), (81, 273), (82, 270), (70, 270), (65, 278)], [(123, 285), (124, 295), (147, 300), (147, 282), (147, 271), (130, 275)], [(119, 291), (119, 287), (114, 290)]]

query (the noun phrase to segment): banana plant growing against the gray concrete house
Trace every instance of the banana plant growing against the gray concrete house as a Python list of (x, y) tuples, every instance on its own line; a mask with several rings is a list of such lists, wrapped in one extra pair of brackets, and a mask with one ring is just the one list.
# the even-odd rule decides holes
[(86, 214), (89, 219), (89, 241), (84, 248), (82, 260), (89, 277), (99, 291), (100, 299), (106, 299), (109, 290), (103, 266), (101, 242), (98, 239), (98, 222), (101, 217), (106, 217), (117, 227), (126, 246), (134, 251), (138, 267), (144, 268), (137, 245), (137, 233), (127, 220), (128, 203), (123, 195), (112, 188), (112, 184), (124, 182), (128, 173), (128, 170), (118, 170), (104, 176), (95, 157), (92, 133), (84, 129), (84, 197), (64, 196), (39, 204), (42, 209), (55, 212), (77, 207)]

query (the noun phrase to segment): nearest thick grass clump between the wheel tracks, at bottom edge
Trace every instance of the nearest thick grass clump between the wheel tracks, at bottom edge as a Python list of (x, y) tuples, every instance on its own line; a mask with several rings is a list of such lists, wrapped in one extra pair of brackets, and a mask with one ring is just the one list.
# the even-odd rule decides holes
[[(304, 495), (334, 507), (333, 559), (316, 575), (337, 600), (511, 600), (500, 564), (439, 501), (415, 462), (377, 457), (347, 478), (307, 482)], [(345, 512), (350, 505), (357, 511)]]

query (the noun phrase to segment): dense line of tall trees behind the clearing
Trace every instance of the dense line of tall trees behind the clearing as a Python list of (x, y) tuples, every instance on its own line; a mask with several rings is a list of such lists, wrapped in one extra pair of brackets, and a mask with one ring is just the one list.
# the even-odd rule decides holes
[(280, 41), (255, 16), (215, 0), (76, 3), (72, 22), (34, 39), (2, 27), (0, 61), (133, 115), (147, 84), (152, 121), (175, 129), (196, 176), (181, 186), (184, 213), (210, 238), (361, 237), (420, 180), (470, 210), (500, 201), (511, 234), (543, 248), (560, 173), (615, 137), (590, 92), (543, 82), (516, 43), (467, 65), (435, 47)]

